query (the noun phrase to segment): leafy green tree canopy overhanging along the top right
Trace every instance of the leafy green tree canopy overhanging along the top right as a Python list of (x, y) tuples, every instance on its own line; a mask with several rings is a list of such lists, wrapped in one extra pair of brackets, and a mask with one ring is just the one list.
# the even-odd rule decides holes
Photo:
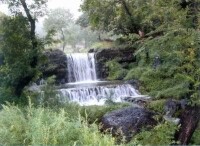
[[(160, 6), (165, 8), (166, 5), (173, 5), (172, 8), (176, 9), (176, 12), (181, 8), (188, 7), (190, 9), (188, 17), (196, 12), (197, 6), (194, 2), (188, 0), (188, 2), (184, 1), (183, 3), (182, 1), (184, 0), (169, 0), (167, 2), (156, 2), (155, 0), (84, 0), (81, 9), (88, 15), (89, 22), (95, 29), (123, 35), (139, 34), (139, 32), (147, 34), (157, 29), (161, 24), (166, 24), (163, 20), (173, 22), (174, 19), (177, 19), (174, 17), (175, 15), (170, 14), (174, 10), (162, 10)], [(195, 18), (191, 19), (195, 20)]]

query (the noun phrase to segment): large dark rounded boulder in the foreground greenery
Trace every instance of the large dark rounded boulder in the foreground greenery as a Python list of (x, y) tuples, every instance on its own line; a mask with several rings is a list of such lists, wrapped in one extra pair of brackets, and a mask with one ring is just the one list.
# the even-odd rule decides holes
[(138, 107), (113, 111), (102, 117), (102, 130), (111, 130), (114, 136), (121, 131), (126, 141), (130, 141), (142, 128), (150, 128), (156, 124), (153, 115), (153, 112)]

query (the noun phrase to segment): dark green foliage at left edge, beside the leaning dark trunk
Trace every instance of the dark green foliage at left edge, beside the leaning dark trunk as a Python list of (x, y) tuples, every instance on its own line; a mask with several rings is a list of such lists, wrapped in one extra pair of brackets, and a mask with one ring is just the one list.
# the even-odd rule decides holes
[(25, 17), (6, 18), (2, 31), (1, 49), (5, 64), (1, 67), (1, 86), (4, 90), (9, 88), (11, 93), (16, 93), (17, 86), (23, 77), (35, 75), (35, 69), (30, 66), (35, 52), (31, 47), (30, 33)]

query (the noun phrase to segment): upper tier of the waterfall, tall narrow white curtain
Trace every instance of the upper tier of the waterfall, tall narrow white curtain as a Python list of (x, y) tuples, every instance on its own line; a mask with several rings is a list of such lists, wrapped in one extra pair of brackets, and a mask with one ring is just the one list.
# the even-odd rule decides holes
[(97, 80), (94, 53), (68, 54), (67, 62), (69, 82), (89, 82)]

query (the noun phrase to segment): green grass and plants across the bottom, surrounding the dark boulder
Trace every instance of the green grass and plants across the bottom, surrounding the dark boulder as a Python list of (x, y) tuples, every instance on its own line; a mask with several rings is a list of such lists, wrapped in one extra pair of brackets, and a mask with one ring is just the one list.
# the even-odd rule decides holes
[[(156, 102), (157, 103), (157, 102)], [(159, 103), (160, 104), (160, 103)], [(105, 106), (81, 107), (68, 103), (65, 106), (43, 107), (3, 105), (0, 110), (0, 145), (170, 145), (178, 125), (159, 120), (157, 126), (142, 130), (129, 143), (119, 141), (111, 134), (99, 131), (100, 118), (115, 109), (128, 106), (113, 104)], [(159, 111), (160, 106), (153, 108)], [(161, 112), (161, 111), (160, 111)], [(156, 117), (155, 117), (156, 118)], [(160, 119), (160, 118), (159, 118)], [(199, 128), (193, 135), (191, 144), (199, 144)], [(118, 141), (116, 143), (116, 141)]]

